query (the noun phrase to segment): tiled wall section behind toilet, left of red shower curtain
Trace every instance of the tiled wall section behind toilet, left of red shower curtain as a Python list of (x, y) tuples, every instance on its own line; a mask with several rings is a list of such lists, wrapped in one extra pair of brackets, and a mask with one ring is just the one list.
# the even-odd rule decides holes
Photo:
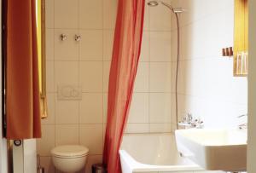
[[(116, 0), (46, 0), (46, 58), (49, 118), (42, 121), (38, 153), (55, 172), (50, 149), (64, 144), (90, 148), (90, 164), (102, 161), (103, 100), (107, 92)], [(67, 35), (61, 41), (61, 34)], [(74, 40), (78, 34), (80, 42)], [(61, 101), (61, 85), (82, 87), (82, 100)], [(56, 171), (57, 172), (57, 171)]]

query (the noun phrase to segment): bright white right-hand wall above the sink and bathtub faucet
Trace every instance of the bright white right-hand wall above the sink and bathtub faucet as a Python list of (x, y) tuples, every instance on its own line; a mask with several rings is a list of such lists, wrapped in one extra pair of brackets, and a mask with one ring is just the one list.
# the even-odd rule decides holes
[[(179, 118), (191, 112), (202, 118), (205, 127), (234, 127), (246, 121), (237, 116), (247, 113), (247, 78), (233, 77), (232, 57), (221, 56), (222, 48), (233, 46), (234, 1), (175, 0), (172, 4), (186, 10), (179, 14)], [(177, 63), (175, 22), (172, 17), (172, 85), (175, 84)], [(172, 100), (172, 111), (175, 111), (174, 106)], [(175, 122), (172, 112), (172, 124)]]

